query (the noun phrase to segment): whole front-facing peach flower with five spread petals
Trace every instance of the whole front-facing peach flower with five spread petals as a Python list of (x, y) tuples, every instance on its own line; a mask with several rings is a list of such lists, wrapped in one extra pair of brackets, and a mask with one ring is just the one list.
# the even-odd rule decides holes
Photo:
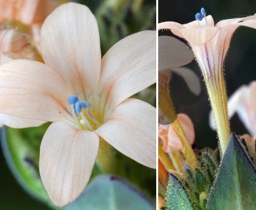
[(156, 82), (156, 31), (122, 39), (102, 58), (95, 16), (68, 3), (41, 30), (45, 64), (14, 60), (0, 67), (0, 113), (33, 126), (53, 123), (40, 149), (39, 171), (55, 205), (74, 201), (89, 178), (103, 138), (156, 168), (156, 108), (129, 98)]

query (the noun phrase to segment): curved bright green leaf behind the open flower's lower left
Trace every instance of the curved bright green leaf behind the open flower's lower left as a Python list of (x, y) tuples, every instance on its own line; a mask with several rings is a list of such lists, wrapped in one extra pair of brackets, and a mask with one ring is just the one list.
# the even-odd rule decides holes
[[(39, 175), (39, 148), (49, 124), (29, 129), (1, 130), (1, 146), (14, 177), (34, 198), (53, 207)], [(6, 131), (6, 132), (5, 132)]]

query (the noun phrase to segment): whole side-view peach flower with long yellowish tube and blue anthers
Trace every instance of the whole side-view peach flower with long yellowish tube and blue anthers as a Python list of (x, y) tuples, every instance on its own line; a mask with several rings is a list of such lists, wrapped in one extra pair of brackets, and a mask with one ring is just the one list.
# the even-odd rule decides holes
[(221, 149), (224, 152), (230, 138), (230, 127), (223, 62), (234, 31), (239, 26), (256, 28), (256, 16), (222, 20), (215, 25), (213, 18), (205, 14), (205, 10), (202, 9), (201, 13), (196, 14), (195, 21), (183, 25), (177, 22), (162, 22), (158, 24), (158, 30), (169, 29), (175, 35), (186, 39), (194, 52), (202, 70)]

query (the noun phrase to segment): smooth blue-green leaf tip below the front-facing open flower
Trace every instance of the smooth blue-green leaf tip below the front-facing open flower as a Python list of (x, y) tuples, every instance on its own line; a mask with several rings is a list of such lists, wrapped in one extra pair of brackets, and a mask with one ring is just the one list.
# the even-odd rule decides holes
[(83, 194), (64, 209), (153, 210), (156, 205), (123, 179), (105, 175), (94, 179)]

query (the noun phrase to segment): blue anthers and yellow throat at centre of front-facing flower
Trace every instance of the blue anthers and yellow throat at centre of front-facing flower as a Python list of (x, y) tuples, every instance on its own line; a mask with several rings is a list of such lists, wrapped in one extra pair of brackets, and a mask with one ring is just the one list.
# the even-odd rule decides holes
[(84, 130), (94, 131), (100, 126), (101, 123), (93, 117), (93, 114), (89, 110), (91, 108), (90, 102), (79, 100), (78, 96), (70, 96), (68, 97), (68, 104), (78, 127)]

